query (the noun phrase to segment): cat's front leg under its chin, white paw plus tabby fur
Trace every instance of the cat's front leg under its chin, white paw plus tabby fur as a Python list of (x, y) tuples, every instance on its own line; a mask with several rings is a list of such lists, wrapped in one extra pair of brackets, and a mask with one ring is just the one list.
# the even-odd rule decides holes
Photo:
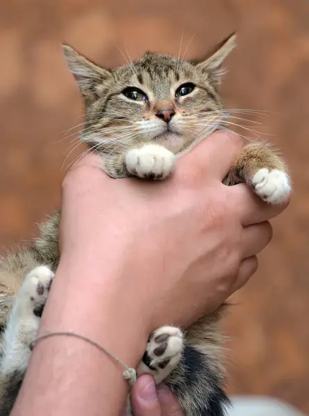
[(124, 154), (106, 156), (103, 170), (111, 177), (138, 176), (163, 180), (172, 173), (176, 156), (159, 144), (144, 144)]

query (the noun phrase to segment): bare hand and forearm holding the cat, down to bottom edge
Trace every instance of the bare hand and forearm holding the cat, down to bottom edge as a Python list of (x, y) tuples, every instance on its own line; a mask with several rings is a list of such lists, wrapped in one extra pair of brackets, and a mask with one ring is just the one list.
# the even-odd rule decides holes
[[(153, 329), (186, 327), (242, 287), (272, 238), (267, 220), (287, 204), (222, 184), (241, 148), (237, 135), (217, 132), (154, 183), (112, 180), (97, 156), (83, 159), (62, 187), (60, 266), (40, 333), (82, 333), (135, 367)], [(12, 416), (119, 416), (127, 392), (106, 354), (48, 338), (34, 349)]]

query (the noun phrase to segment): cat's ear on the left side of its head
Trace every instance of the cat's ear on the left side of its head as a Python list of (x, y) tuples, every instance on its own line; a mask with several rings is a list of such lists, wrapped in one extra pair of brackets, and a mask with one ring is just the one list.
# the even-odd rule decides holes
[(80, 55), (72, 46), (64, 44), (63, 51), (67, 65), (85, 98), (96, 95), (96, 87), (112, 76), (110, 71)]

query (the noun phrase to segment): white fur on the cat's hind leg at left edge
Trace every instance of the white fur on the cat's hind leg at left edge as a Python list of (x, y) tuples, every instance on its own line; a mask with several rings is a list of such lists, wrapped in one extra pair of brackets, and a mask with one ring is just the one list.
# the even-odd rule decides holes
[[(35, 340), (40, 318), (33, 310), (46, 302), (53, 272), (47, 266), (39, 266), (26, 276), (20, 288), (15, 305), (3, 336), (3, 360), (1, 372), (26, 370), (31, 350), (29, 345)], [(44, 288), (42, 294), (37, 288)]]

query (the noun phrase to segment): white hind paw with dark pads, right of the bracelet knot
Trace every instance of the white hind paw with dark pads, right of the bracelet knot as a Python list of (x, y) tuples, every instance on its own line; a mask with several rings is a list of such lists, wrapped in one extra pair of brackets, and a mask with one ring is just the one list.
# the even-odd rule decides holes
[(147, 343), (137, 374), (152, 374), (160, 383), (174, 370), (183, 352), (183, 333), (176, 327), (160, 327)]

